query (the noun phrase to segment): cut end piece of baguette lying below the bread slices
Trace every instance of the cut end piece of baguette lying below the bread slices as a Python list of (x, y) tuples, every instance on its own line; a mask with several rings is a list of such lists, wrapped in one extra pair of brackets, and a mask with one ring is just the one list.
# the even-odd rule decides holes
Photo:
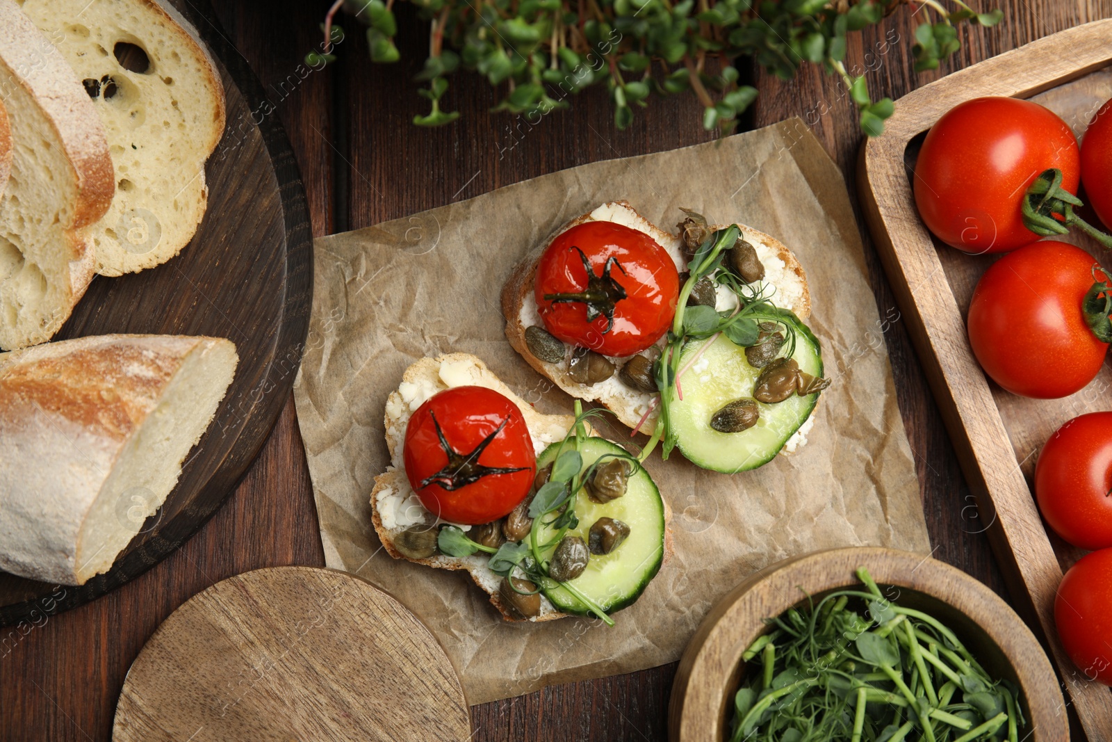
[(173, 488), (235, 375), (231, 340), (103, 335), (0, 355), (0, 570), (80, 585)]

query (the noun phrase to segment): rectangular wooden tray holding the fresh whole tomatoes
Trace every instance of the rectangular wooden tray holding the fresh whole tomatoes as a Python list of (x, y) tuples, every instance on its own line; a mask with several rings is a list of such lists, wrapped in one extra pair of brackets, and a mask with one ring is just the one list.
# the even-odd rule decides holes
[[(990, 383), (965, 334), (973, 287), (999, 256), (970, 257), (933, 240), (919, 219), (910, 174), (925, 131), (955, 105), (981, 96), (1032, 98), (1062, 116), (1079, 136), (1112, 98), (1112, 20), (1094, 21), (960, 70), (904, 96), (883, 137), (858, 159), (862, 209), (907, 330), (950, 431), (982, 523), (1029, 623), (1041, 626), (1070, 702), (1093, 742), (1112, 735), (1112, 693), (1084, 679), (1054, 631), (1062, 572), (1081, 555), (1049, 535), (1030, 487), (1035, 455), (1068, 419), (1110, 408), (1112, 370), (1072, 397), (1024, 399)], [(1094, 255), (1088, 238), (1069, 238)], [(1108, 256), (1100, 256), (1108, 264)], [(962, 507), (965, 503), (954, 503)]]

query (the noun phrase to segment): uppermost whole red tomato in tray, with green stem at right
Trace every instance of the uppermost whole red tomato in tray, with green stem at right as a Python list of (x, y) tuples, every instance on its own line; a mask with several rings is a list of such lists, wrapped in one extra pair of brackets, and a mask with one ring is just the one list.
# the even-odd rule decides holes
[(1037, 237), (1020, 201), (1049, 168), (1078, 192), (1078, 140), (1050, 110), (1016, 98), (975, 98), (931, 127), (915, 162), (915, 205), (926, 228), (966, 253), (1006, 253)]

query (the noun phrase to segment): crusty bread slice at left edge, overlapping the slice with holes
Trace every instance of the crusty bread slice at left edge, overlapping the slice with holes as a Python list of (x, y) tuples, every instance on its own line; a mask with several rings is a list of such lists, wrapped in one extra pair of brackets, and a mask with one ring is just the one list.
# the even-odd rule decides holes
[(0, 100), (12, 141), (0, 196), (0, 348), (43, 343), (93, 275), (88, 226), (112, 200), (103, 126), (73, 70), (0, 0)]

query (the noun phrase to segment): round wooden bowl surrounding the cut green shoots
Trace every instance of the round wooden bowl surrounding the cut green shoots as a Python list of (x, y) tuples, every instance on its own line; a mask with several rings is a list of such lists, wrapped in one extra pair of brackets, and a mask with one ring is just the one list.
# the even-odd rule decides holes
[(719, 601), (692, 637), (672, 689), (668, 733), (673, 742), (723, 742), (729, 738), (733, 698), (741, 684), (742, 654), (767, 631), (765, 619), (806, 595), (860, 586), (864, 566), (891, 600), (926, 611), (957, 634), (990, 675), (1021, 690), (1020, 703), (1035, 742), (1070, 739), (1062, 691), (1031, 630), (999, 595), (964, 572), (921, 554), (891, 548), (833, 548), (765, 567)]

